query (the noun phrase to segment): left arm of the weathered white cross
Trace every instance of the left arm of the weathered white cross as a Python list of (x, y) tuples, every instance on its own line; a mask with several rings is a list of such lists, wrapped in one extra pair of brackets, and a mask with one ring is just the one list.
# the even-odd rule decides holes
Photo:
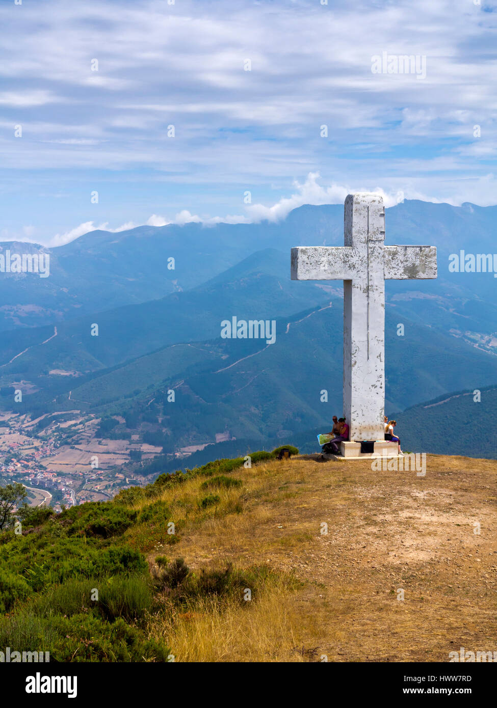
[(351, 246), (298, 246), (291, 249), (291, 280), (352, 280)]

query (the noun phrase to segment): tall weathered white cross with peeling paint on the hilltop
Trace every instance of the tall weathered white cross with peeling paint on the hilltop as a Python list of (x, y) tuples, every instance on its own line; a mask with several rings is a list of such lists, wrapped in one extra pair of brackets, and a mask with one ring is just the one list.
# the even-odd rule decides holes
[(385, 246), (377, 194), (347, 195), (344, 233), (345, 246), (291, 249), (291, 279), (343, 280), (343, 415), (350, 440), (384, 440), (385, 279), (436, 278), (437, 249)]

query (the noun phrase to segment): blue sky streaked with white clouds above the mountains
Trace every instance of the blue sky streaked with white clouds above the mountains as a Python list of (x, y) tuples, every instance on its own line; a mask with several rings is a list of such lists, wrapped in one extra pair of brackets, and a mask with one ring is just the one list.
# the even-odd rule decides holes
[[(496, 204), (496, 8), (324, 1), (0, 0), (0, 239), (280, 219), (357, 190)], [(383, 52), (425, 77), (373, 73)]]

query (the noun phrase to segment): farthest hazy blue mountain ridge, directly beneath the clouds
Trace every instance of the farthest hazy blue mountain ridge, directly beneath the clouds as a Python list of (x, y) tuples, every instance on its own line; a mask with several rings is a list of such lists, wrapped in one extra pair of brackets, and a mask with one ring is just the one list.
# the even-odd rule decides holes
[[(493, 253), (497, 207), (462, 207), (406, 200), (386, 210), (387, 244), (432, 244), (439, 251), (439, 281), (423, 292), (485, 296), (489, 278), (448, 271), (448, 256), (466, 249)], [(304, 205), (281, 222), (198, 223), (142, 226), (113, 233), (92, 231), (69, 244), (47, 248), (21, 242), (0, 243), (0, 254), (48, 253), (50, 277), (1, 273), (0, 329), (57, 324), (78, 314), (113, 309), (189, 290), (266, 248), (288, 253), (291, 246), (342, 245), (343, 207)], [(174, 270), (168, 259), (174, 258)], [(393, 284), (417, 290), (418, 285)], [(392, 292), (393, 292), (392, 291)]]

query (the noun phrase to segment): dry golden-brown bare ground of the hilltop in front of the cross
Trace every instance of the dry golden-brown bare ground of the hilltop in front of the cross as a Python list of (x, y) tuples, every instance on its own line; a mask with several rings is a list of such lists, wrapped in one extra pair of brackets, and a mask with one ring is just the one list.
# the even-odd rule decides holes
[(233, 476), (242, 513), (187, 528), (174, 555), (294, 573), (304, 661), (497, 651), (497, 461), (428, 455), (418, 476), (295, 457)]

